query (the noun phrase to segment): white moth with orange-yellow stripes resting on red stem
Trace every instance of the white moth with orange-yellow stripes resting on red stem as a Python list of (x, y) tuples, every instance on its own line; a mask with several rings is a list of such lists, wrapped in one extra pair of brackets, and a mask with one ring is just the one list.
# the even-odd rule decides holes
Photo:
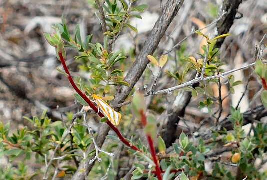
[(110, 107), (101, 97), (93, 94), (92, 98), (98, 107), (103, 111), (104, 115), (113, 125), (119, 125), (121, 120), (121, 114), (116, 112), (112, 107)]

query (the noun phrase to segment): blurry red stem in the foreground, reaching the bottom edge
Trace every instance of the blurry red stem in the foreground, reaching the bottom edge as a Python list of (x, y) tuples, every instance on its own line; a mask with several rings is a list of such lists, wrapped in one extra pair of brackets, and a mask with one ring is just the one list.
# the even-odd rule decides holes
[[(143, 123), (143, 126), (145, 127), (146, 124), (147, 124), (147, 120), (146, 120), (146, 116), (143, 112), (143, 110), (140, 111), (140, 114), (141, 114), (141, 121)], [(149, 143), (149, 147), (150, 147), (150, 152), (151, 152), (151, 155), (152, 155), (152, 158), (153, 158), (153, 161), (155, 163), (155, 173), (156, 173), (156, 176), (159, 180), (162, 180), (162, 176), (161, 176), (161, 169), (158, 165), (158, 161), (157, 161), (157, 157), (156, 157), (156, 151), (155, 151), (155, 147), (154, 147), (154, 143), (153, 143), (153, 139), (151, 137), (151, 135), (149, 133), (146, 134), (147, 136), (147, 141)]]

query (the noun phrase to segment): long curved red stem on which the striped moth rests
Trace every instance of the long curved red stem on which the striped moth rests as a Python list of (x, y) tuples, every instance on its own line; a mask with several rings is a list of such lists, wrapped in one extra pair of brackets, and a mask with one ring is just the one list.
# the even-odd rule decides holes
[[(65, 58), (63, 57), (62, 55), (62, 52), (58, 52), (58, 56), (60, 58), (60, 61), (61, 61), (61, 64), (63, 65), (63, 68), (65, 70), (65, 72), (67, 73), (68, 75), (68, 80), (70, 82), (70, 84), (72, 85), (72, 87), (75, 89), (75, 91), (88, 103), (88, 105), (100, 116), (100, 117), (104, 117), (104, 114), (102, 112), (100, 112), (98, 110), (98, 108), (92, 103), (92, 101), (86, 96), (85, 93), (83, 93), (78, 87), (77, 85), (75, 84), (72, 76), (70, 75), (70, 72), (68, 70), (68, 67), (66, 65), (66, 61), (65, 61)], [(117, 134), (117, 136), (119, 137), (120, 141), (123, 142), (125, 145), (127, 145), (128, 147), (130, 147), (131, 149), (135, 150), (135, 151), (139, 151), (141, 152), (140, 149), (138, 149), (138, 147), (132, 145), (129, 143), (129, 141), (127, 141), (125, 139), (125, 137), (123, 137), (123, 135), (121, 134), (121, 132), (118, 130), (117, 127), (115, 127), (109, 120), (106, 121), (107, 125), (112, 128), (115, 133)]]

